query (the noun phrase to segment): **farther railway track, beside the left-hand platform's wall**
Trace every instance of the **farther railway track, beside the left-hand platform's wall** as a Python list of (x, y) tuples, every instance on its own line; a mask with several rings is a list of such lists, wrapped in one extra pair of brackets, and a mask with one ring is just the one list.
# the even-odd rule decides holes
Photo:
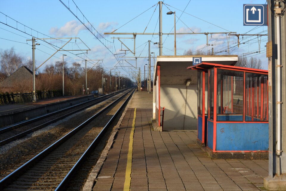
[[(119, 94), (122, 91), (125, 90), (121, 90), (116, 92), (115, 94)], [(16, 139), (19, 139), (33, 131), (36, 131), (38, 129), (41, 129), (51, 123), (54, 123), (60, 119), (63, 119), (65, 117), (70, 116), (71, 114), (74, 114), (78, 111), (81, 111), (85, 108), (91, 107), (94, 104), (100, 103), (112, 96), (114, 96), (115, 94), (108, 94), (102, 97), (98, 97), (96, 99), (93, 100), (89, 100), (83, 103), (79, 103), (67, 108), (63, 108), (61, 110), (58, 111), (54, 111), (51, 112), (49, 114), (40, 116), (40, 117), (36, 117), (34, 119), (30, 119), (24, 122), (21, 122), (19, 124), (7, 127), (7, 128), (3, 128), (0, 130), (0, 146), (5, 145), (9, 142), (12, 142)]]

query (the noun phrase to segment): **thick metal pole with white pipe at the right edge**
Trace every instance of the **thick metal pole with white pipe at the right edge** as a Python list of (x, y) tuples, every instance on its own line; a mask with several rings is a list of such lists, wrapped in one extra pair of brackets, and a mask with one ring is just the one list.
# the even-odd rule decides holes
[[(268, 4), (268, 116), (269, 170), (264, 178), (266, 190), (286, 190), (286, 19), (281, 8), (285, 1), (271, 0)], [(280, 39), (281, 38), (281, 39)], [(282, 55), (282, 56), (281, 56)], [(283, 84), (283, 85), (282, 85)]]

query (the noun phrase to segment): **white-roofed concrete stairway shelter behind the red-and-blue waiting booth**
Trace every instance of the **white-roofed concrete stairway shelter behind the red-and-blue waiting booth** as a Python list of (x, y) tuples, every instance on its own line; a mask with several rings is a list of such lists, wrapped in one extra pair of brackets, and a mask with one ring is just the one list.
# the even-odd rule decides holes
[(158, 56), (153, 75), (153, 119), (163, 131), (197, 130), (198, 72), (187, 69), (197, 57), (228, 66), (237, 62), (237, 55)]

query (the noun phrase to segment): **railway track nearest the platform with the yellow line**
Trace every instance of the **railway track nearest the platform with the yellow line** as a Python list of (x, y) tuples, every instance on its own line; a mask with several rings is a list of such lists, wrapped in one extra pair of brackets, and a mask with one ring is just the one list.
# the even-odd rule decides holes
[(3, 178), (0, 190), (65, 190), (70, 178), (127, 103), (131, 96), (128, 92)]

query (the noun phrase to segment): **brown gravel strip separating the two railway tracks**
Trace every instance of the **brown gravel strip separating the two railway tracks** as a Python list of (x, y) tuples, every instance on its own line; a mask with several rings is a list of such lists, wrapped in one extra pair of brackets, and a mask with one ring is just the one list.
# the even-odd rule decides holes
[(71, 131), (71, 129), (80, 125), (83, 121), (100, 111), (100, 109), (108, 105), (108, 103), (116, 100), (116, 98), (120, 97), (122, 94), (123, 93), (120, 93), (91, 108), (78, 112), (76, 115), (62, 119), (61, 122), (51, 124), (46, 127), (46, 131), (38, 130), (30, 133), (28, 136), (18, 139), (18, 144), (16, 144), (17, 142), (11, 142), (2, 146), (0, 148), (0, 179), (10, 174), (13, 170), (20, 167), (47, 146)]

